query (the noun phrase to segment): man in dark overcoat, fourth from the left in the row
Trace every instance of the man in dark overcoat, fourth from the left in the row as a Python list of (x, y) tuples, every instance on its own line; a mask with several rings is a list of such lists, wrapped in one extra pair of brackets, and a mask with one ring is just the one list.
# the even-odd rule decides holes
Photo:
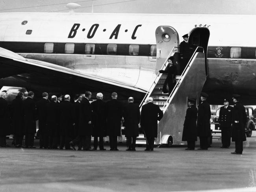
[(42, 93), (42, 99), (39, 100), (36, 104), (37, 107), (37, 114), (38, 114), (38, 128), (40, 131), (40, 149), (45, 148), (48, 149), (49, 147), (49, 131), (46, 127), (46, 120), (47, 120), (47, 105), (48, 101), (48, 93)]

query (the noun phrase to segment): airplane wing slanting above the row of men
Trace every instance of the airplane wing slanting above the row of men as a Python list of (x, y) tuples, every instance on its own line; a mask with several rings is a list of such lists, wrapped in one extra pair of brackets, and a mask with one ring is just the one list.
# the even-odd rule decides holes
[[(86, 75), (63, 66), (26, 59), (14, 52), (0, 48), (0, 78), (8, 79), (8, 77), (15, 77), (15, 79), (20, 79), (24, 82), (28, 81), (30, 85), (35, 85), (37, 82), (38, 85), (35, 86), (41, 85), (41, 89), (45, 87), (45, 90), (42, 91), (48, 90), (49, 92), (50, 87), (69, 87), (72, 92), (77, 92), (74, 89), (82, 89), (83, 92), (85, 90), (105, 93), (115, 91), (119, 95), (123, 94), (124, 96), (124, 94), (127, 94), (126, 98), (132, 96), (132, 94), (143, 97), (146, 93), (145, 90)], [(58, 84), (58, 86), (53, 86), (55, 84)]]

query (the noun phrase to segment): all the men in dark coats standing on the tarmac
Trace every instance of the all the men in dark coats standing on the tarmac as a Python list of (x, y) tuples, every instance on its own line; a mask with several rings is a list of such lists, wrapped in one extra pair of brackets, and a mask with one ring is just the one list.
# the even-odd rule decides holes
[[(10, 114), (7, 105), (7, 92), (0, 93), (0, 146), (6, 146), (6, 135), (13, 134), (17, 148), (22, 147), (25, 135), (25, 147), (34, 147), (36, 133), (36, 120), (38, 119), (39, 142), (41, 149), (66, 150), (106, 150), (103, 138), (109, 136), (111, 151), (118, 151), (117, 137), (121, 135), (121, 124), (125, 127), (128, 151), (135, 151), (136, 137), (139, 136), (139, 125), (146, 137), (146, 151), (154, 151), (154, 138), (158, 133), (158, 121), (163, 117), (163, 112), (150, 97), (147, 104), (143, 105), (141, 113), (139, 106), (134, 104), (134, 98), (128, 98), (124, 105), (117, 100), (117, 93), (111, 94), (111, 100), (103, 101), (103, 94), (97, 93), (97, 100), (92, 103), (91, 92), (79, 95), (75, 103), (70, 102), (70, 96), (62, 97), (53, 95), (48, 100), (48, 93), (43, 92), (41, 100), (33, 100), (34, 93), (28, 92), (24, 99), (23, 92), (19, 92), (12, 101)], [(195, 150), (197, 137), (200, 140), (198, 150), (208, 150), (211, 137), (210, 104), (206, 101), (208, 94), (202, 92), (198, 109), (196, 99), (188, 98), (182, 140), (187, 141), (186, 150)], [(229, 106), (227, 99), (221, 107), (219, 123), (221, 127), (222, 146), (229, 148), (230, 139), (235, 142), (236, 150), (233, 154), (242, 154), (243, 141), (246, 140), (245, 125), (247, 115), (245, 107), (239, 102), (240, 96), (233, 95), (234, 107)], [(12, 127), (12, 129), (11, 129)], [(91, 148), (91, 137), (94, 137)], [(99, 138), (99, 143), (98, 143)], [(58, 148), (59, 146), (59, 148)]]

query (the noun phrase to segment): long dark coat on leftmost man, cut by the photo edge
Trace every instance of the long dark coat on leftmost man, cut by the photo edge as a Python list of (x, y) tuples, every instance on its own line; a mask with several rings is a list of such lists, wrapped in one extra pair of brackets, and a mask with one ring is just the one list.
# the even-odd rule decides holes
[(11, 116), (8, 103), (4, 98), (0, 98), (0, 135), (6, 136), (11, 132)]

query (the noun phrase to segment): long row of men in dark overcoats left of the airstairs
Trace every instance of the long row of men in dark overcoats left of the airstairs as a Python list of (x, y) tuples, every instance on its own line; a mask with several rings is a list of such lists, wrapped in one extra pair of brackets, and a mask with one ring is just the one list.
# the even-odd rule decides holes
[[(89, 102), (91, 92), (79, 95), (75, 103), (70, 102), (70, 96), (53, 95), (48, 100), (48, 93), (43, 92), (38, 102), (33, 100), (34, 93), (28, 92), (24, 98), (19, 92), (11, 103), (11, 113), (7, 106), (7, 93), (0, 94), (0, 146), (6, 147), (6, 135), (14, 135), (15, 146), (22, 147), (25, 135), (25, 148), (35, 148), (34, 136), (36, 120), (38, 120), (37, 137), (41, 149), (66, 150), (106, 150), (103, 138), (109, 137), (111, 151), (118, 151), (117, 137), (121, 135), (121, 124), (125, 128), (127, 150), (135, 151), (136, 137), (139, 136), (139, 124), (147, 138), (147, 151), (153, 151), (154, 138), (157, 137), (157, 121), (163, 116), (158, 105), (149, 98), (140, 113), (139, 106), (134, 104), (134, 98), (128, 98), (128, 103), (117, 100), (117, 93), (111, 94), (111, 100), (103, 101), (103, 94), (97, 93), (97, 100)], [(149, 113), (150, 111), (150, 113)], [(12, 128), (11, 128), (12, 127)], [(91, 148), (91, 137), (94, 137)], [(98, 142), (99, 139), (99, 142)]]

